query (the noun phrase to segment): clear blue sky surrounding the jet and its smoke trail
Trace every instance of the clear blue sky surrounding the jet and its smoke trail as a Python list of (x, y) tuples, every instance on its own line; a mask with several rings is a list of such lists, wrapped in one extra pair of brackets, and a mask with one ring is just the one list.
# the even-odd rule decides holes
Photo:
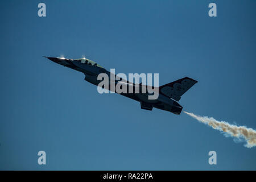
[[(38, 3), (47, 17), (38, 17)], [(217, 18), (208, 16), (210, 2)], [(0, 169), (256, 169), (255, 148), (188, 115), (99, 94), (42, 57), (86, 56), (159, 84), (199, 82), (185, 111), (256, 129), (256, 1), (2, 1)], [(38, 165), (38, 151), (47, 165)], [(208, 152), (217, 152), (217, 165)]]

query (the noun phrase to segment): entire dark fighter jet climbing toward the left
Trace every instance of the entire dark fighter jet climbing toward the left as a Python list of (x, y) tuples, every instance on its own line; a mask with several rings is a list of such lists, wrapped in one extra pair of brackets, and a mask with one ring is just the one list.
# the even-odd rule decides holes
[[(44, 56), (46, 57), (46, 56)], [(101, 82), (101, 80), (98, 80), (97, 77), (100, 73), (106, 73), (109, 78), (110, 75), (113, 74), (109, 71), (107, 71), (105, 68), (101, 67), (101, 65), (95, 63), (92, 60), (82, 58), (82, 59), (66, 59), (64, 57), (46, 57), (49, 60), (53, 61), (54, 63), (63, 65), (64, 67), (68, 67), (71, 69), (75, 69), (76, 71), (82, 72), (85, 75), (84, 80), (97, 85)], [(126, 83), (129, 86), (132, 86), (133, 89), (135, 88), (143, 88), (142, 84), (134, 84), (133, 82), (129, 82), (124, 79), (120, 79), (122, 83)], [(110, 80), (111, 82), (111, 80)], [(158, 88), (158, 98), (155, 100), (149, 99), (148, 96), (150, 96), (150, 92), (142, 93), (140, 89), (139, 93), (119, 93), (125, 97), (129, 97), (135, 101), (141, 102), (141, 109), (146, 110), (152, 110), (153, 107), (161, 110), (170, 111), (174, 114), (180, 114), (183, 107), (179, 105), (177, 101), (180, 100), (181, 96), (187, 92), (188, 89), (190, 89), (194, 84), (196, 84), (196, 80), (193, 80), (189, 77), (181, 78), (180, 80), (176, 80), (174, 82), (170, 82), (168, 84), (159, 86)], [(115, 81), (115, 85), (118, 83), (118, 81)], [(109, 86), (110, 90), (111, 86)], [(150, 89), (150, 87), (147, 87)], [(154, 88), (152, 86), (151, 88)], [(157, 90), (157, 89), (155, 89)], [(115, 90), (111, 90), (114, 91)], [(151, 90), (152, 91), (152, 90)], [(117, 93), (117, 92), (115, 92)]]

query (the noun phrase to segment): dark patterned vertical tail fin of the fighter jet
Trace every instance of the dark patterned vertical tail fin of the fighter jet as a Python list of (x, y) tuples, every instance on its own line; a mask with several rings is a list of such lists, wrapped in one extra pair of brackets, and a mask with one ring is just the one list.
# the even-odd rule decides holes
[(181, 78), (180, 80), (159, 86), (159, 93), (179, 101), (180, 97), (196, 83), (197, 81), (192, 78)]

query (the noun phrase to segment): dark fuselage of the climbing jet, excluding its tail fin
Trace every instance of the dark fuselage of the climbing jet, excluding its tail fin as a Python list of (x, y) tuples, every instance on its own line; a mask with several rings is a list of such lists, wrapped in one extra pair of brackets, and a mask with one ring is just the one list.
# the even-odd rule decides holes
[[(106, 71), (105, 68), (102, 68), (97, 63), (90, 61), (88, 59), (72, 60), (72, 59), (65, 59), (65, 58), (59, 58), (59, 57), (47, 57), (47, 58), (57, 64), (63, 65), (64, 67), (75, 69), (76, 71), (84, 73), (85, 80), (97, 86), (101, 82), (101, 80), (97, 80), (97, 77), (100, 73), (106, 73), (109, 76), (109, 78), (111, 77), (110, 75), (113, 74), (113, 73), (110, 73), (109, 71)], [(114, 75), (114, 77), (115, 76), (116, 75)], [(112, 92), (115, 92), (115, 90), (111, 89), (110, 82), (111, 80), (109, 80), (109, 90)], [(117, 82), (115, 82), (115, 84), (117, 84)], [(129, 85), (133, 85), (134, 90), (135, 90), (135, 87), (141, 88), (142, 86), (146, 86), (141, 84), (133, 84), (126, 80), (122, 80), (122, 82), (127, 82), (129, 83)], [(133, 93), (119, 93), (119, 94), (125, 97), (129, 97), (135, 101), (141, 102), (141, 108), (146, 110), (152, 110), (152, 108), (155, 107), (161, 110), (170, 111), (171, 113), (174, 113), (174, 114), (180, 114), (181, 110), (183, 109), (183, 107), (180, 106), (175, 100), (167, 96), (164, 96), (164, 94), (159, 93), (157, 99), (149, 100), (148, 99), (149, 93), (148, 92), (142, 93), (141, 92), (142, 89), (139, 89), (139, 90), (140, 90), (139, 93), (133, 92)]]

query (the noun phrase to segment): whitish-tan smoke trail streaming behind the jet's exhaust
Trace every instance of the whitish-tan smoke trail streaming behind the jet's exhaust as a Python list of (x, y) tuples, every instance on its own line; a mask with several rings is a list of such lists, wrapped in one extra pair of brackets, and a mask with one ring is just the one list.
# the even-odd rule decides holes
[(254, 129), (248, 129), (246, 126), (230, 125), (228, 122), (225, 121), (217, 121), (214, 118), (208, 118), (206, 116), (201, 117), (200, 115), (188, 113), (186, 111), (183, 112), (190, 115), (192, 118), (197, 119), (197, 121), (205, 123), (205, 125), (211, 126), (215, 130), (224, 131), (231, 137), (245, 140), (245, 147), (247, 148), (256, 146), (256, 131)]

